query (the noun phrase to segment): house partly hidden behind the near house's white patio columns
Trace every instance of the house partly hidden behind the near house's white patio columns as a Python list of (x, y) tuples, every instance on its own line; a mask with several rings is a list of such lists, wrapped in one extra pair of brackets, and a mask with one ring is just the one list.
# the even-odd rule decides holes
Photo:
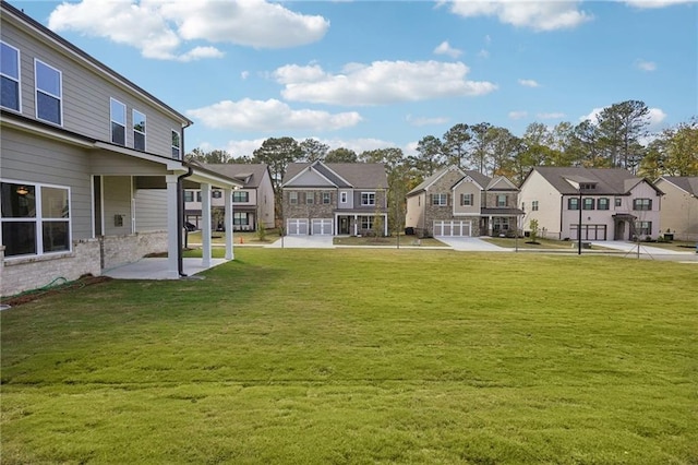
[[(260, 224), (264, 228), (275, 226), (274, 186), (266, 164), (204, 164), (203, 167), (239, 181), (242, 187), (232, 191), (232, 225), (234, 230), (256, 230)], [(214, 208), (213, 227), (222, 229), (218, 218), (224, 212), (224, 198), (220, 189), (210, 192), (210, 205)], [(186, 222), (201, 227), (201, 190), (184, 191), (184, 213)]]

